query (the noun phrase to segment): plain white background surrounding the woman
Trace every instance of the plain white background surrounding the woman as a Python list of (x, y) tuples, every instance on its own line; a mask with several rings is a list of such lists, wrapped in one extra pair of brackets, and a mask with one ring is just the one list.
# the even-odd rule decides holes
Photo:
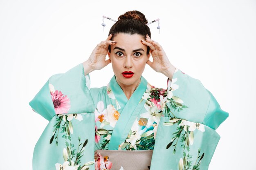
[[(171, 63), (216, 97), (228, 119), (209, 170), (255, 170), (256, 1), (255, 0), (0, 0), (0, 169), (31, 170), (34, 146), (48, 121), (29, 101), (47, 79), (88, 59), (114, 22), (139, 10)], [(90, 74), (91, 86), (106, 86), (109, 64)], [(154, 86), (166, 77), (148, 65)]]

